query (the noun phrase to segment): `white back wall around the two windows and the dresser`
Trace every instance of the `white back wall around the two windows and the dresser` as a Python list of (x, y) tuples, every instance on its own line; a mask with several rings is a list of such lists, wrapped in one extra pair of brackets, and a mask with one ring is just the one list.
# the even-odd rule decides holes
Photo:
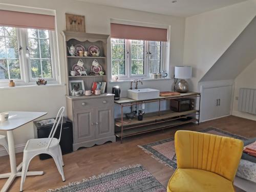
[[(62, 83), (65, 83), (66, 72), (64, 63), (66, 58), (65, 44), (60, 32), (66, 29), (65, 13), (85, 15), (86, 32), (88, 33), (110, 34), (111, 18), (170, 26), (170, 65), (180, 65), (183, 62), (185, 19), (181, 17), (100, 6), (74, 0), (0, 0), (0, 3), (56, 11), (56, 30), (58, 34), (60, 75)], [(0, 4), (0, 9), (3, 8), (4, 6)], [(165, 83), (167, 86), (169, 86), (169, 84), (169, 81)], [(157, 81), (154, 85), (155, 87), (161, 87), (162, 83)], [(127, 83), (125, 84), (125, 89), (126, 87)], [(53, 117), (59, 106), (66, 106), (65, 94), (66, 89), (64, 86), (0, 89), (0, 111), (46, 111), (49, 115), (44, 118)], [(32, 137), (32, 123), (29, 123), (27, 126), (20, 127), (15, 131), (15, 144), (20, 146)]]

